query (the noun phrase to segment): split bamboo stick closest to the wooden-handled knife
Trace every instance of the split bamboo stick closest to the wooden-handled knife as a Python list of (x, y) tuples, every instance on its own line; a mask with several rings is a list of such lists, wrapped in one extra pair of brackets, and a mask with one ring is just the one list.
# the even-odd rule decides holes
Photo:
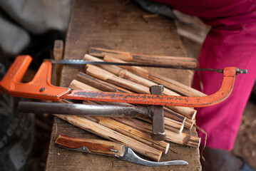
[(135, 152), (140, 153), (141, 155), (145, 155), (153, 160), (159, 161), (162, 155), (162, 151), (157, 150), (153, 147), (145, 145), (143, 142), (138, 140), (134, 140), (126, 135), (118, 133), (115, 130), (111, 130), (101, 124), (95, 123), (92, 120), (88, 120), (84, 117), (79, 117), (75, 115), (56, 115), (58, 118), (66, 120), (68, 123), (72, 125), (76, 125), (79, 128), (88, 130), (91, 133), (101, 136), (102, 138), (106, 138), (108, 140), (113, 140), (115, 142), (121, 142), (124, 145), (132, 148)]

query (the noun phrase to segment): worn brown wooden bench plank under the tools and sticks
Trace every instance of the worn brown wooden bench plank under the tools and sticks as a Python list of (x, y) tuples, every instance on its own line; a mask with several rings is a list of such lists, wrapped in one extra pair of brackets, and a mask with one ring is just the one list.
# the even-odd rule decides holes
[[(64, 50), (65, 59), (81, 59), (88, 48), (110, 48), (153, 55), (186, 56), (174, 22), (158, 16), (145, 22), (148, 14), (132, 2), (113, 0), (78, 0), (73, 3)], [(68, 86), (83, 68), (63, 66), (61, 86)], [(171, 69), (154, 69), (180, 83), (190, 85), (192, 73)], [(78, 138), (99, 138), (55, 118), (51, 133), (46, 170), (201, 170), (199, 150), (170, 143), (169, 150), (160, 161), (185, 160), (189, 165), (144, 167), (112, 157), (91, 155), (58, 147), (54, 141), (59, 134)], [(195, 128), (190, 134), (196, 135)]]

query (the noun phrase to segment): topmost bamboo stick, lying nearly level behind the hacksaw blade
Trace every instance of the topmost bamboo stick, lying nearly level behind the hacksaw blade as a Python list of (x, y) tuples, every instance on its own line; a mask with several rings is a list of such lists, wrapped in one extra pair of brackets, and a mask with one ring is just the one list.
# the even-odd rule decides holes
[(90, 54), (93, 56), (104, 57), (107, 54), (121, 58), (124, 61), (134, 61), (140, 63), (158, 63), (173, 66), (185, 66), (195, 67), (196, 60), (188, 57), (176, 57), (176, 56), (150, 56), (141, 55), (123, 51), (113, 51), (104, 48), (90, 48)]

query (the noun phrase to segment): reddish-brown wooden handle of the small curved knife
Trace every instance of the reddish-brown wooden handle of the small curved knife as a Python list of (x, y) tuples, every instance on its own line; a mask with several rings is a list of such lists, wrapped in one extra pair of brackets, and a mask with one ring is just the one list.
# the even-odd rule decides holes
[(123, 156), (125, 152), (124, 145), (106, 140), (73, 138), (66, 135), (58, 135), (55, 142), (58, 145), (72, 149), (87, 147), (90, 152), (96, 152), (104, 155)]

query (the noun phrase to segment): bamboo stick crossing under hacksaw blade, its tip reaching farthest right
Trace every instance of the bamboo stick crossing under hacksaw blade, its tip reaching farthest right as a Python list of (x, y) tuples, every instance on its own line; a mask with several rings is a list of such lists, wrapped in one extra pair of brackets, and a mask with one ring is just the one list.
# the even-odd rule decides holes
[[(123, 61), (119, 58), (116, 58), (116, 56), (111, 56), (111, 55), (106, 55), (104, 57), (104, 61), (126, 63), (126, 61)], [(128, 71), (137, 74), (138, 76), (148, 78), (149, 80), (154, 81), (155, 83), (161, 84), (166, 88), (170, 88), (170, 90), (174, 90), (175, 92), (178, 92), (180, 94), (193, 96), (193, 97), (205, 96), (205, 93), (195, 90), (190, 86), (186, 86), (182, 83), (179, 83), (178, 81), (173, 81), (172, 79), (167, 78), (165, 76), (160, 76), (157, 73), (152, 73), (151, 71), (148, 71), (145, 68), (141, 68), (138, 66), (119, 66), (119, 67), (125, 68)]]

